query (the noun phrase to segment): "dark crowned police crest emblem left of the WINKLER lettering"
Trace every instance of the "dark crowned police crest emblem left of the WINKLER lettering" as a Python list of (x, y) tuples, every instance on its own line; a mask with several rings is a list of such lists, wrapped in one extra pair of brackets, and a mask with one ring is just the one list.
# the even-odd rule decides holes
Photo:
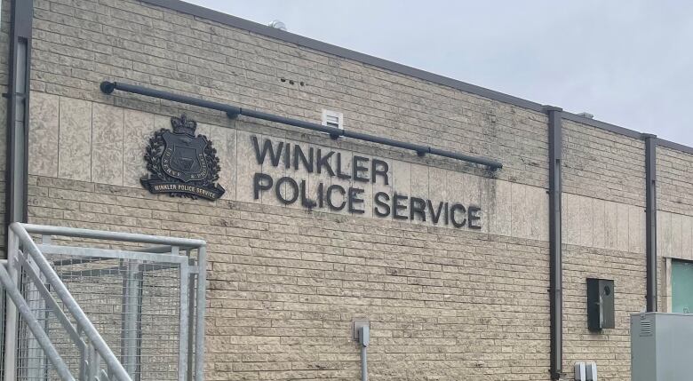
[(153, 194), (217, 200), (224, 194), (219, 180), (219, 157), (211, 141), (195, 136), (197, 123), (171, 117), (171, 130), (156, 131), (144, 155), (149, 174), (139, 179)]

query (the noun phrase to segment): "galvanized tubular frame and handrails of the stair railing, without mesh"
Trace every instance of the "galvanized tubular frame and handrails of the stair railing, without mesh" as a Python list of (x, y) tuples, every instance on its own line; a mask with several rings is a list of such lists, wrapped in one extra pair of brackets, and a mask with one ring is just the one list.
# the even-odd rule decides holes
[[(32, 237), (32, 234), (42, 235), (43, 243), (39, 244), (35, 242), (35, 237)], [(84, 247), (62, 245), (56, 246), (50, 243), (52, 235), (68, 238), (77, 237), (116, 242), (145, 243), (153, 246), (142, 247), (131, 251), (95, 248), (87, 249)], [(196, 250), (197, 255), (195, 261), (189, 257), (191, 250)], [(27, 272), (24, 276), (28, 276), (28, 279), (36, 286), (36, 291), (42, 296), (44, 303), (56, 314), (60, 324), (67, 330), (68, 335), (72, 337), (75, 345), (80, 349), (82, 368), (80, 369), (79, 379), (84, 379), (84, 377), (86, 377), (86, 379), (89, 380), (109, 379), (114, 381), (131, 381), (131, 376), (123, 365), (125, 362), (119, 361), (115, 353), (111, 351), (104, 338), (100, 336), (100, 333), (92, 324), (92, 321), (90, 321), (84, 313), (82, 307), (77, 304), (76, 299), (68, 291), (65, 283), (60, 279), (60, 275), (53, 268), (55, 264), (52, 264), (48, 258), (45, 257), (46, 254), (52, 255), (60, 253), (75, 254), (79, 257), (84, 256), (84, 259), (69, 259), (69, 261), (79, 261), (78, 263), (89, 263), (92, 262), (93, 259), (101, 260), (107, 257), (131, 258), (136, 260), (147, 258), (148, 260), (163, 264), (162, 266), (170, 266), (171, 268), (175, 268), (176, 266), (166, 264), (178, 263), (178, 266), (181, 268), (181, 290), (189, 289), (189, 292), (195, 292), (197, 299), (196, 305), (190, 304), (189, 310), (183, 309), (180, 311), (180, 334), (183, 335), (183, 332), (187, 333), (184, 335), (185, 337), (179, 338), (179, 376), (187, 373), (189, 379), (193, 379), (193, 375), (195, 375), (195, 380), (203, 380), (203, 316), (206, 290), (206, 272), (204, 269), (206, 267), (206, 242), (187, 238), (118, 233), (62, 226), (41, 226), (21, 223), (12, 223), (10, 225), (8, 235), (9, 261), (4, 260), (3, 263), (12, 263), (16, 264), (16, 266), (8, 266), (6, 270), (3, 269), (4, 271), (2, 273), (4, 274), (0, 274), (0, 277), (4, 278), (3, 284), (7, 283), (10, 285), (8, 290), (17, 291), (12, 294), (12, 301), (15, 302), (15, 304), (14, 306), (8, 306), (7, 311), (8, 316), (15, 316), (12, 320), (12, 330), (17, 328), (17, 313), (19, 312), (23, 318), (22, 321), (28, 323), (28, 328), (31, 329), (32, 332), (34, 329), (41, 329), (41, 332), (35, 333), (36, 340), (39, 342), (46, 356), (52, 361), (52, 365), (56, 371), (58, 371), (60, 378), (63, 380), (74, 379), (70, 373), (70, 369), (64, 366), (64, 362), (60, 362), (60, 355), (56, 352), (55, 348), (52, 347), (50, 337), (47, 336), (47, 332), (41, 327), (37, 317), (32, 314), (32, 307), (28, 305), (27, 300), (22, 294), (23, 291), (19, 288), (18, 271), (22, 272), (24, 270)], [(167, 256), (165, 253), (173, 255)], [(189, 267), (188, 269), (188, 266), (193, 265), (193, 263), (195, 263), (195, 266)], [(66, 260), (59, 260), (57, 264), (68, 264), (68, 262), (66, 262)], [(185, 270), (183, 270), (183, 268), (185, 268)], [(183, 274), (187, 275), (183, 276)], [(193, 279), (193, 276), (196, 277), (196, 290), (194, 283), (189, 282)], [(44, 282), (51, 285), (50, 291), (44, 287)], [(181, 293), (181, 306), (187, 306), (188, 300), (189, 303), (193, 303), (193, 298), (188, 299), (187, 292), (185, 296), (183, 295), (184, 294)], [(58, 303), (60, 303), (61, 307), (58, 306)], [(16, 309), (15, 306), (17, 307)], [(194, 321), (187, 318), (187, 314), (191, 313), (193, 309), (195, 309)], [(75, 325), (69, 322), (65, 314), (71, 315), (72, 320), (75, 321)], [(68, 326), (66, 326), (66, 321)], [(190, 325), (189, 329), (183, 329), (183, 324), (187, 324), (184, 321), (190, 321), (190, 323), (194, 322), (194, 325)], [(81, 332), (77, 333), (77, 335), (84, 335), (84, 338), (75, 337), (76, 332)], [(194, 337), (192, 336), (193, 332)], [(190, 339), (189, 345), (188, 335)], [(16, 340), (16, 337), (7, 337), (6, 342), (8, 346), (6, 347), (10, 348), (10, 343), (14, 343), (12, 346), (16, 345)], [(193, 345), (195, 345), (195, 351), (193, 351)], [(57, 359), (52, 356), (53, 354), (58, 356)], [(188, 356), (187, 361), (185, 360), (186, 356)], [(12, 359), (13, 357), (14, 356), (12, 356)], [(195, 358), (195, 366), (192, 366), (193, 358)], [(99, 364), (100, 361), (102, 361), (101, 365)], [(11, 375), (15, 375), (13, 371), (14, 370), (12, 370)]]

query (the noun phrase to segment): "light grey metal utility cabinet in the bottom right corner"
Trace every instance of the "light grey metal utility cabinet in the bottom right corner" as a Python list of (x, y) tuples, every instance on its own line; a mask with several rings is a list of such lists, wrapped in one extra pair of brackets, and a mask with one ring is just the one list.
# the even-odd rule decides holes
[(693, 379), (693, 314), (631, 315), (631, 380)]

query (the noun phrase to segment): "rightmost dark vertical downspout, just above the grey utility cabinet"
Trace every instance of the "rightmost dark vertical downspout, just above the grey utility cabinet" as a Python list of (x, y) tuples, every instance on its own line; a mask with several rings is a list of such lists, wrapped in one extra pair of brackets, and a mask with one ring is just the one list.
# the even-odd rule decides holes
[(647, 311), (657, 312), (657, 136), (645, 140), (645, 236), (647, 260)]

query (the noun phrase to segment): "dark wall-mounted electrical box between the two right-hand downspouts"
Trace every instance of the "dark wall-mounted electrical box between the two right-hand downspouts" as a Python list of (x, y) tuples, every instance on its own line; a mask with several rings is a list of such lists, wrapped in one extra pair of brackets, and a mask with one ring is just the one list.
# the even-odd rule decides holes
[(590, 330), (616, 326), (614, 281), (587, 278), (587, 327)]

